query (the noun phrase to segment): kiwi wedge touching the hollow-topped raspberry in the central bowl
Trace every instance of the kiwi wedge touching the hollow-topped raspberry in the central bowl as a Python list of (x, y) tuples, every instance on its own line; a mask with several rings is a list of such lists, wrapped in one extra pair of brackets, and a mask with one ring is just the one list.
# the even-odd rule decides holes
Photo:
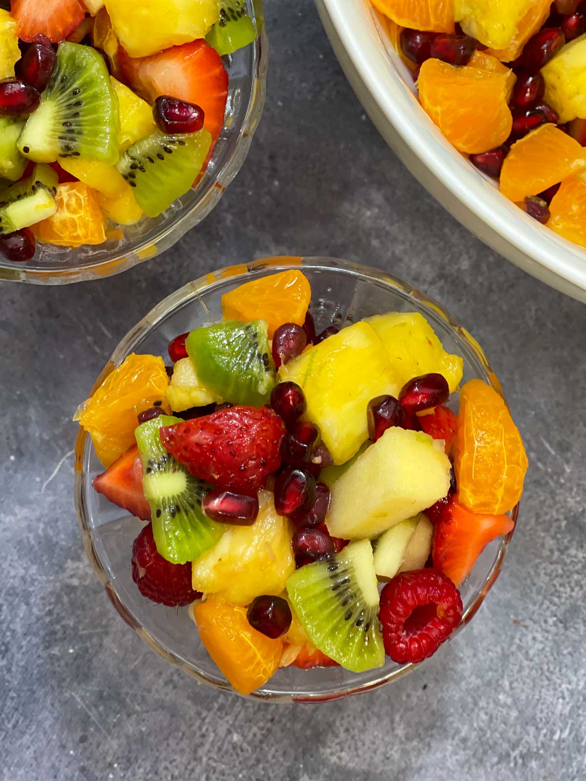
[(309, 640), (323, 654), (352, 672), (384, 665), (369, 540), (297, 569), (288, 578), (287, 593)]

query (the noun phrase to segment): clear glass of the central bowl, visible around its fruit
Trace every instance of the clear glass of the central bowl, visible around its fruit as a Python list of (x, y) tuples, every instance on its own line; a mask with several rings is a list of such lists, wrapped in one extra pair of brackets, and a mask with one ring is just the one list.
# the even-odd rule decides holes
[[(221, 269), (190, 282), (171, 294), (123, 338), (95, 387), (131, 352), (166, 355), (169, 341), (192, 328), (222, 317), (221, 297), (243, 282), (284, 269), (302, 269), (312, 288), (311, 312), (318, 333), (332, 322), (353, 323), (380, 312), (421, 312), (448, 352), (464, 359), (463, 382), (479, 377), (502, 394), (484, 352), (463, 326), (445, 309), (415, 288), (393, 276), (332, 258), (269, 258)], [(125, 514), (91, 487), (103, 471), (91, 438), (80, 428), (75, 446), (75, 504), (84, 547), (116, 610), (148, 643), (174, 665), (203, 683), (233, 691), (198, 638), (188, 608), (170, 609), (142, 597), (132, 581), (130, 551), (143, 522)], [(518, 507), (513, 511), (516, 519)], [(481, 606), (502, 568), (512, 532), (485, 549), (463, 583), (462, 625)], [(453, 637), (453, 635), (452, 635)], [(441, 653), (440, 651), (438, 651)], [(424, 662), (423, 662), (424, 664)], [(358, 694), (406, 675), (415, 665), (390, 660), (380, 669), (356, 674), (341, 667), (309, 671), (288, 667), (278, 670), (262, 689), (250, 697), (273, 701), (329, 701)]]

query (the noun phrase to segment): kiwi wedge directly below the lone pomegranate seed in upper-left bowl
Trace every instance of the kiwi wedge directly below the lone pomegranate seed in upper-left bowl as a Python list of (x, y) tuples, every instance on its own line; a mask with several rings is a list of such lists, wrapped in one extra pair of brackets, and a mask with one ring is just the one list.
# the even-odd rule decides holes
[(212, 137), (207, 130), (153, 133), (123, 153), (117, 167), (149, 217), (157, 217), (186, 193), (202, 170)]

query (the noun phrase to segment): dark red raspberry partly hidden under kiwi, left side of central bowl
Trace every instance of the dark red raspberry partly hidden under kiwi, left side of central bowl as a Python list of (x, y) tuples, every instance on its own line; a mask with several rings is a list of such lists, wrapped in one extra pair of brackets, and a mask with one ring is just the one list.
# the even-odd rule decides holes
[(191, 588), (191, 562), (167, 562), (156, 549), (150, 523), (132, 546), (132, 580), (143, 597), (170, 608), (191, 604), (202, 596)]

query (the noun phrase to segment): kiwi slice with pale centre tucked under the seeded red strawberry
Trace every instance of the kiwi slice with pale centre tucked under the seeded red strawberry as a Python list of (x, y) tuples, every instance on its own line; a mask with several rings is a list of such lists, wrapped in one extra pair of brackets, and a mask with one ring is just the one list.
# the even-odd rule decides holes
[(173, 423), (181, 423), (181, 419), (159, 415), (141, 423), (134, 434), (142, 458), (142, 487), (151, 506), (157, 551), (168, 562), (184, 564), (213, 547), (227, 527), (202, 511), (202, 497), (211, 486), (191, 475), (163, 448), (159, 428)]

